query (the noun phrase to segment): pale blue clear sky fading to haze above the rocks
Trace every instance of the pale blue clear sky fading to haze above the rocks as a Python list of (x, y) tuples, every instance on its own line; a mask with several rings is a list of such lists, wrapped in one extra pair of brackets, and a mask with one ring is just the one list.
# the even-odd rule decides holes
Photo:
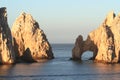
[(7, 7), (8, 24), (12, 28), (22, 12), (39, 23), (50, 43), (75, 43), (99, 27), (110, 11), (120, 12), (120, 0), (0, 0)]

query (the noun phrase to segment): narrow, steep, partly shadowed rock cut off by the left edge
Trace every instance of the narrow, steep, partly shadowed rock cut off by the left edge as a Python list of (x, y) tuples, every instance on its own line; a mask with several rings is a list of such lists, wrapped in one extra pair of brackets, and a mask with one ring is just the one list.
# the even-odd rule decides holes
[(7, 23), (6, 8), (0, 8), (0, 63), (12, 64), (15, 56), (12, 46), (12, 36)]

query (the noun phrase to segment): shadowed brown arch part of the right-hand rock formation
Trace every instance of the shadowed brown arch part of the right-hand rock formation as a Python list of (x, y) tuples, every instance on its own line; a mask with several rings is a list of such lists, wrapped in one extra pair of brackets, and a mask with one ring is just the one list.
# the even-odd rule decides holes
[(75, 46), (72, 49), (72, 59), (74, 60), (81, 60), (81, 56), (86, 51), (92, 51), (93, 57), (91, 59), (95, 59), (97, 55), (97, 46), (94, 44), (90, 37), (88, 36), (86, 41), (83, 41), (82, 35), (79, 35), (76, 39)]

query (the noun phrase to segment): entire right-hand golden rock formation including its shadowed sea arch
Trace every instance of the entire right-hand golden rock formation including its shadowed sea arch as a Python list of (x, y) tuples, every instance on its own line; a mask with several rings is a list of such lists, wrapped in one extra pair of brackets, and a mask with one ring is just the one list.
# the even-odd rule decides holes
[(72, 59), (81, 60), (85, 51), (93, 51), (96, 62), (118, 63), (120, 61), (120, 15), (110, 12), (103, 24), (89, 33), (83, 41), (80, 35), (72, 50)]

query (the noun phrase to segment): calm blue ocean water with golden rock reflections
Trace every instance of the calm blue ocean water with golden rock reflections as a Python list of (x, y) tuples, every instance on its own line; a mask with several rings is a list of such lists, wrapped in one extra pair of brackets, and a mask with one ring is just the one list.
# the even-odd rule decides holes
[(102, 64), (87, 60), (71, 61), (73, 44), (52, 44), (55, 59), (40, 63), (0, 65), (0, 80), (120, 80), (120, 64)]

